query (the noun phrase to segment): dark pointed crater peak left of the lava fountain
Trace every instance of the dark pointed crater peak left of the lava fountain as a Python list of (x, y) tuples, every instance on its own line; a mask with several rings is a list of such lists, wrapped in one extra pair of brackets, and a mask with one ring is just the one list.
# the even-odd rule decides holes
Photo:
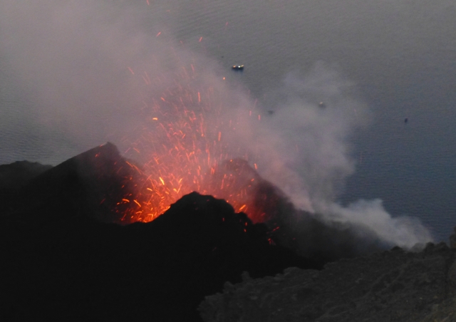
[(112, 210), (124, 194), (134, 191), (135, 180), (130, 178), (135, 176), (138, 173), (117, 147), (106, 143), (29, 180), (15, 191), (4, 215), (46, 222), (84, 214), (103, 222), (120, 222), (123, 213)]

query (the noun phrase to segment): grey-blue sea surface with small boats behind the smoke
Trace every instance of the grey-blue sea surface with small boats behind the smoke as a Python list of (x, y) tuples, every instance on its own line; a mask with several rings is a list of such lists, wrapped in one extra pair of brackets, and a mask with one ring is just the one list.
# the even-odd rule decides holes
[[(371, 122), (351, 137), (356, 172), (339, 202), (382, 199), (393, 216), (418, 217), (437, 241), (447, 240), (456, 226), (454, 1), (149, 3), (132, 1), (150, 15), (145, 32), (172, 34), (216, 61), (227, 78), (265, 106), (288, 73), (305, 75), (318, 62), (354, 83)], [(122, 1), (112, 6), (128, 7)], [(0, 34), (2, 40), (14, 37)], [(9, 64), (13, 54), (0, 47), (0, 163), (26, 159), (56, 165), (98, 145), (98, 140), (78, 144), (64, 127), (36, 123), (41, 103)], [(32, 59), (33, 50), (28, 55)], [(238, 63), (245, 69), (233, 73), (230, 66)]]

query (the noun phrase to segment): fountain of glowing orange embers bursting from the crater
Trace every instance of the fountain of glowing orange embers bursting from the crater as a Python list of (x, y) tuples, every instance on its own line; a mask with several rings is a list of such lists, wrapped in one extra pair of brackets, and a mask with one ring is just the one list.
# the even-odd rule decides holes
[[(150, 222), (184, 194), (197, 191), (226, 199), (237, 212), (262, 222), (262, 207), (256, 207), (252, 199), (260, 179), (244, 161), (247, 154), (241, 154), (244, 160), (233, 160), (224, 143), (225, 134), (236, 130), (238, 120), (222, 119), (223, 102), (214, 88), (192, 88), (196, 76), (194, 66), (190, 67), (191, 71), (182, 68), (158, 98), (143, 101), (145, 123), (135, 132), (138, 140), (128, 142), (126, 152), (144, 164), (138, 167), (128, 162), (135, 176), (126, 178), (130, 180), (125, 185), (128, 193), (115, 211), (124, 214), (125, 222)], [(142, 79), (151, 88), (163, 85), (147, 73)], [(252, 111), (245, 114), (249, 118)], [(253, 117), (260, 120), (259, 115)]]

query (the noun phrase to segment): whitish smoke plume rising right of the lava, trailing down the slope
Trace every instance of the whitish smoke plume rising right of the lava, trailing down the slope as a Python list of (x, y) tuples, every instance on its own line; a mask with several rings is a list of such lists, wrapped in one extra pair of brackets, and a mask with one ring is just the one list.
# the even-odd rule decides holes
[(417, 218), (391, 217), (380, 199), (348, 207), (335, 202), (356, 170), (351, 136), (370, 119), (356, 85), (320, 62), (306, 76), (288, 75), (269, 96), (274, 104), (268, 117), (243, 126), (249, 130), (237, 140), (255, 147), (263, 177), (297, 207), (323, 214), (328, 222), (359, 224), (388, 244), (406, 248), (432, 240)]

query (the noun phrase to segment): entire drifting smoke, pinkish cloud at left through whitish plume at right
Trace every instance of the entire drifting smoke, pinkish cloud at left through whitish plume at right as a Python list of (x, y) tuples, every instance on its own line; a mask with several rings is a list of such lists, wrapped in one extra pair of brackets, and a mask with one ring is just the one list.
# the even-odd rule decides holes
[[(106, 140), (129, 152), (155, 148), (138, 139), (150, 126), (154, 102), (201, 93), (208, 103), (203, 144), (220, 141), (227, 157), (247, 157), (296, 207), (327, 222), (367, 227), (391, 244), (430, 241), (418, 220), (392, 218), (378, 200), (348, 207), (334, 202), (355, 171), (351, 135), (369, 119), (353, 84), (316, 63), (306, 76), (289, 74), (255, 103), (223, 79), (217, 63), (151, 25), (145, 9), (143, 2), (2, 1), (1, 60), (28, 101), (19, 107), (26, 135), (41, 138), (47, 150), (28, 159), (65, 160)], [(188, 108), (202, 109), (197, 103)], [(144, 153), (131, 157), (147, 159)]]

